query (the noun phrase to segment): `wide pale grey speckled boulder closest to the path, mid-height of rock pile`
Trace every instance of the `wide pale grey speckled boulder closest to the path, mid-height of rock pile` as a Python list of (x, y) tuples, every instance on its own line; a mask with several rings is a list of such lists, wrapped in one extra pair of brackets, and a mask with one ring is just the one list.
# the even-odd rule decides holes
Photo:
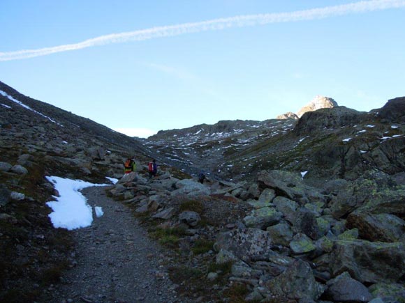
[(256, 259), (266, 259), (275, 254), (272, 240), (267, 231), (257, 228), (234, 229), (219, 233), (214, 244), (214, 249), (230, 251), (242, 261), (249, 262)]

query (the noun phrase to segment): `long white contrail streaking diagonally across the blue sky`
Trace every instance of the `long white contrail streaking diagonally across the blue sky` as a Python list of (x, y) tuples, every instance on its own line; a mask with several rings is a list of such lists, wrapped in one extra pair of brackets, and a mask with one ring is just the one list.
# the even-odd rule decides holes
[(184, 23), (170, 26), (157, 26), (150, 29), (128, 31), (125, 33), (112, 33), (99, 36), (79, 43), (45, 47), (41, 49), (24, 49), (15, 52), (0, 52), (0, 61), (27, 59), (36, 56), (45, 56), (58, 52), (67, 52), (99, 45), (121, 43), (128, 41), (142, 41), (155, 38), (179, 36), (185, 33), (199, 33), (202, 31), (219, 31), (234, 27), (258, 26), (270, 23), (297, 22), (302, 20), (317, 20), (332, 16), (366, 13), (374, 10), (388, 8), (403, 8), (405, 0), (371, 0), (348, 3), (340, 6), (327, 6), (309, 10), (297, 10), (289, 13), (270, 13), (259, 15), (240, 15), (235, 17), (220, 18), (202, 22)]

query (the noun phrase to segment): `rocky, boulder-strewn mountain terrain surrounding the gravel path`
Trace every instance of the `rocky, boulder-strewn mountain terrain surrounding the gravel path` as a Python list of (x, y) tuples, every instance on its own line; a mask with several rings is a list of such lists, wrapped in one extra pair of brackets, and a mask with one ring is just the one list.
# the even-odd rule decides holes
[[(52, 174), (120, 178), (109, 194), (172, 250), (185, 297), (404, 302), (404, 134), (396, 98), (135, 140), (0, 83), (0, 301), (33, 302), (74, 262), (71, 233), (47, 218)], [(138, 171), (121, 178), (128, 155)], [(187, 175), (201, 169), (203, 185)]]

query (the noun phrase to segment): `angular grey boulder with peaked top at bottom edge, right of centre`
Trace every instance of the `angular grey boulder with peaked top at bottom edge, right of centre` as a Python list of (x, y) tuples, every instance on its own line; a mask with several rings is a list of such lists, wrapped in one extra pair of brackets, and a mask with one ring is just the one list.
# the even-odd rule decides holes
[[(265, 282), (273, 296), (289, 300), (317, 300), (325, 286), (317, 283), (308, 263), (297, 259), (288, 269)], [(285, 301), (286, 302), (286, 301)]]

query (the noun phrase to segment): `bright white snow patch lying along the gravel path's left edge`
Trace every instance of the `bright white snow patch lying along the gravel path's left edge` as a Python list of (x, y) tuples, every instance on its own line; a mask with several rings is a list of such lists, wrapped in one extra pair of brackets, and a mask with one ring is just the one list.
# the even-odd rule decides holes
[[(73, 229), (91, 226), (93, 222), (93, 208), (87, 203), (86, 197), (80, 192), (81, 189), (91, 186), (105, 186), (105, 184), (93, 184), (83, 180), (71, 180), (57, 176), (47, 176), (59, 196), (54, 196), (55, 201), (47, 202), (52, 208), (49, 217), (54, 228), (65, 228), (68, 231)], [(108, 178), (112, 183), (118, 180)], [(96, 217), (104, 215), (101, 206), (94, 206)]]

